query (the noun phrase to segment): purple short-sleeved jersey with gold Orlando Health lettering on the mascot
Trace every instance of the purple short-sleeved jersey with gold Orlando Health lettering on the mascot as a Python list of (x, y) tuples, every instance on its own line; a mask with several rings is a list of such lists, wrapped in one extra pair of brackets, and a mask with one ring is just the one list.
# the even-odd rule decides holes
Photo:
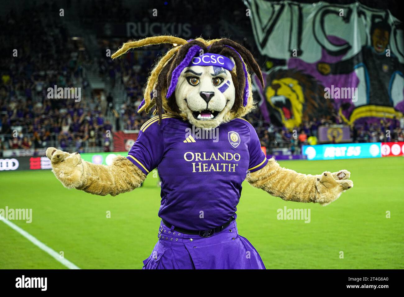
[[(198, 128), (172, 114), (145, 122), (128, 159), (146, 175), (160, 175), (159, 217), (175, 227), (207, 230), (235, 215), (248, 172), (268, 160), (255, 129), (236, 118), (221, 124), (206, 139)], [(192, 133), (194, 132), (194, 133)], [(194, 135), (193, 135), (194, 134)]]

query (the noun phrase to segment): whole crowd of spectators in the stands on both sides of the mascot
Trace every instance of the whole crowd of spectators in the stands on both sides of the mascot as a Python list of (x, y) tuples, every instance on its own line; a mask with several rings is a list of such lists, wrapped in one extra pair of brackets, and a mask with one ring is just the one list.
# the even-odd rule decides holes
[[(68, 6), (70, 2), (67, 1)], [(122, 6), (122, 1), (79, 2), (78, 5), (84, 7), (82, 11), (86, 11), (86, 19), (106, 16), (109, 21), (122, 22), (130, 15)], [(180, 2), (170, 5), (180, 5)], [(180, 16), (175, 10), (164, 10), (165, 5), (160, 4), (156, 8), (171, 21), (177, 19), (179, 22), (197, 24), (203, 20), (204, 13), (187, 15), (186, 12), (192, 10), (193, 6), (186, 3), (181, 6), (184, 12), (181, 19), (178, 19)], [(201, 10), (207, 12), (208, 7), (201, 5)], [(44, 2), (18, 14), (11, 11), (4, 20), (0, 20), (3, 29), (0, 42), (5, 44), (4, 51), (10, 53), (0, 59), (0, 134), (3, 135), (0, 136), (0, 150), (55, 146), (78, 152), (84, 152), (84, 148), (109, 151), (112, 147), (111, 133), (108, 131), (139, 130), (150, 118), (145, 113), (138, 114), (137, 107), (143, 100), (150, 70), (170, 45), (132, 50), (113, 61), (105, 55), (107, 49), (113, 53), (127, 40), (103, 38), (99, 39), (100, 54), (90, 58), (80, 41), (69, 37), (62, 23), (44, 17), (44, 13), (57, 9), (55, 2), (49, 5)], [(126, 12), (120, 15), (122, 11)], [(136, 15), (138, 12), (132, 13)], [(234, 10), (233, 14), (238, 23), (246, 22), (245, 25), (248, 25), (248, 18), (239, 10)], [(150, 15), (138, 17), (142, 21), (149, 21)], [(225, 25), (218, 27), (223, 28)], [(32, 34), (22, 33), (27, 31)], [(223, 35), (222, 32), (219, 34)], [(245, 38), (237, 41), (254, 52)], [(17, 55), (13, 56), (15, 49)], [(123, 86), (123, 100), (114, 98), (111, 93), (90, 90), (84, 70), (86, 67), (94, 67), (94, 58), (99, 76), (109, 82), (111, 90), (118, 84)], [(54, 85), (82, 88), (80, 102), (74, 99), (49, 99), (47, 89)], [(122, 101), (122, 104), (117, 105), (118, 101)], [(109, 111), (118, 119), (116, 122), (111, 123), (107, 119)], [(319, 126), (339, 122), (336, 116), (322, 116), (303, 121), (295, 131), (289, 131), (283, 126), (266, 122), (259, 108), (248, 114), (246, 119), (256, 128), (268, 154), (285, 148), (291, 154), (300, 154), (301, 145), (318, 143)], [(379, 122), (353, 126), (351, 139), (353, 142), (404, 141), (403, 129), (404, 118), (393, 121), (381, 119)]]

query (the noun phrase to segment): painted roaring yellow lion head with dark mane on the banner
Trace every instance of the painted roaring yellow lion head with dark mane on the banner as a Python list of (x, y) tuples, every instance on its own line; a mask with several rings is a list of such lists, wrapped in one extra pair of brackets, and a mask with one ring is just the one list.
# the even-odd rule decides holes
[(289, 130), (302, 120), (330, 114), (332, 104), (324, 96), (324, 86), (301, 70), (274, 70), (266, 78), (265, 98), (271, 118)]

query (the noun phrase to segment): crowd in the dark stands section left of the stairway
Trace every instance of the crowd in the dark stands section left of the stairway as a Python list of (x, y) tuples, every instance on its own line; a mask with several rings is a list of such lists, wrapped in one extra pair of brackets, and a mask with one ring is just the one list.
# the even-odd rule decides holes
[[(88, 54), (49, 17), (51, 9), (57, 7), (44, 2), (0, 20), (7, 53), (0, 59), (0, 150), (97, 146), (109, 151), (105, 135), (113, 127), (105, 119), (103, 94), (88, 88)], [(81, 97), (50, 99), (48, 88), (55, 85), (81, 88)]]

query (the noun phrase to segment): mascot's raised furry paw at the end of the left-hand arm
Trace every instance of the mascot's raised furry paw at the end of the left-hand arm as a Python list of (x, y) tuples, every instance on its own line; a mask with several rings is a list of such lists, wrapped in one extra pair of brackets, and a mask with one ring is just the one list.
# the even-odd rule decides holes
[(84, 167), (80, 154), (48, 147), (46, 156), (50, 159), (53, 173), (65, 187), (77, 188), (83, 184)]

